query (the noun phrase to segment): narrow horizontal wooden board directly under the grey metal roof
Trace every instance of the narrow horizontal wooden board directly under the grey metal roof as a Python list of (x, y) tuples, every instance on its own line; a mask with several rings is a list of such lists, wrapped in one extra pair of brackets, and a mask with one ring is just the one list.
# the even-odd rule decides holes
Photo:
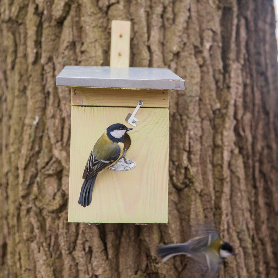
[(169, 106), (169, 90), (72, 87), (71, 105), (136, 107)]

